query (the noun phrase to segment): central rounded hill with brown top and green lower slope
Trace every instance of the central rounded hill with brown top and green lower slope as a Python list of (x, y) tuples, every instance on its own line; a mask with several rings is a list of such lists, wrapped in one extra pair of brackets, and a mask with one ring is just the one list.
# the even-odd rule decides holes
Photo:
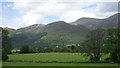
[(82, 41), (89, 32), (89, 29), (84, 26), (75, 26), (64, 21), (58, 21), (46, 25), (43, 31), (46, 31), (47, 35), (42, 39), (47, 39), (47, 41), (54, 45), (63, 45), (61, 42), (69, 44)]

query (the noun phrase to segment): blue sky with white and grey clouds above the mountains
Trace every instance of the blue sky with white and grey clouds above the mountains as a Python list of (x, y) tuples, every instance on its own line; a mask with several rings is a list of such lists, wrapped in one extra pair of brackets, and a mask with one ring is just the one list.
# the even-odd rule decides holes
[(0, 27), (18, 29), (82, 17), (107, 18), (118, 12), (119, 0), (0, 0)]

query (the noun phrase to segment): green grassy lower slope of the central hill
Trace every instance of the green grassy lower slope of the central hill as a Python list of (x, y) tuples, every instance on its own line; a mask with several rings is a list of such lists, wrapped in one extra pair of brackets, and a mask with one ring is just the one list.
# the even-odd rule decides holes
[(45, 42), (51, 43), (52, 45), (62, 45), (62, 42), (67, 45), (81, 42), (84, 40), (84, 37), (80, 35), (74, 35), (67, 31), (48, 31), (48, 34), (42, 37), (42, 39), (45, 40)]

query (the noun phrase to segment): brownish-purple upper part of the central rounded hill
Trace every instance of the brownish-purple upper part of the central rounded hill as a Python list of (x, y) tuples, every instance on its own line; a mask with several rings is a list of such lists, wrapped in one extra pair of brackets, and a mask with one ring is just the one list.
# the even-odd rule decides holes
[(75, 35), (86, 35), (86, 33), (89, 31), (88, 28), (82, 26), (82, 25), (71, 25), (68, 24), (64, 21), (58, 21), (58, 22), (53, 22), (44, 28), (44, 31), (48, 32), (68, 32), (70, 34), (75, 34)]

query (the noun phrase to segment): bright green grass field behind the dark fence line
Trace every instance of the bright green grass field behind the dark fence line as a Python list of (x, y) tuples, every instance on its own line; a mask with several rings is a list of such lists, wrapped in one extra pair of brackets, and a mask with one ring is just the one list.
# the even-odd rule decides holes
[[(41, 62), (87, 62), (89, 57), (80, 53), (32, 53), (8, 55), (10, 61), (41, 61)], [(104, 54), (101, 60), (108, 55)]]

